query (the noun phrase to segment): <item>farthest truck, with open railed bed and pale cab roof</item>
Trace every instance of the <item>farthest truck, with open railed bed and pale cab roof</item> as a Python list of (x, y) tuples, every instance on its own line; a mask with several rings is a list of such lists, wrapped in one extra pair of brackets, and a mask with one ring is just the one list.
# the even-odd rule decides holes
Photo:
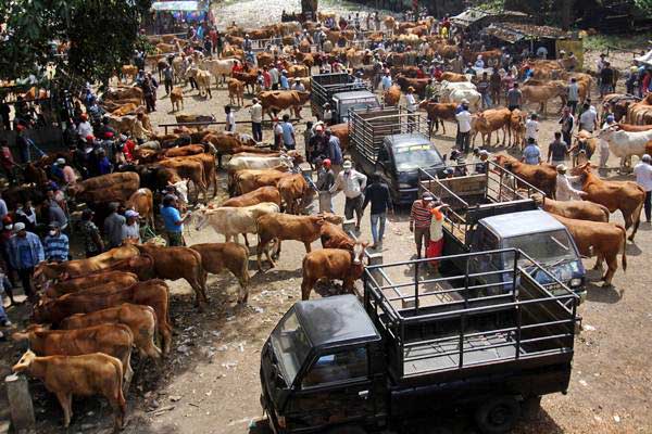
[(324, 120), (326, 103), (330, 104), (333, 111), (333, 124), (346, 123), (350, 110), (380, 106), (372, 86), (347, 73), (313, 75), (310, 84), (310, 106), (318, 120)]

